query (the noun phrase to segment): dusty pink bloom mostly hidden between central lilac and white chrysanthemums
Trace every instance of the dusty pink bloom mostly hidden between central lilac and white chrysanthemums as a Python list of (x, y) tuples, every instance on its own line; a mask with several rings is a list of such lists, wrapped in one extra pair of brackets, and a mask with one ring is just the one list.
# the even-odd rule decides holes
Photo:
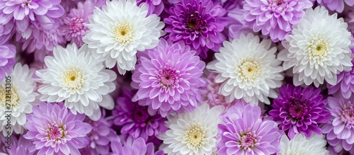
[(207, 75), (203, 76), (203, 79), (207, 81), (207, 87), (200, 89), (202, 102), (209, 104), (210, 107), (223, 105), (225, 108), (229, 108), (238, 101), (236, 99), (234, 101), (228, 101), (229, 98), (226, 98), (219, 92), (222, 84), (215, 82), (217, 73), (211, 71), (205, 71), (205, 73), (207, 73)]

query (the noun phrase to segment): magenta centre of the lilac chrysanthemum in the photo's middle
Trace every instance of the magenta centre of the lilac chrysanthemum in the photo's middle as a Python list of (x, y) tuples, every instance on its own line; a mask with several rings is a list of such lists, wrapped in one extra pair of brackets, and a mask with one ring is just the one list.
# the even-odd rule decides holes
[(176, 84), (178, 74), (176, 73), (176, 69), (172, 69), (171, 67), (164, 67), (164, 69), (159, 70), (157, 79), (162, 86), (165, 88), (170, 88), (173, 86), (173, 84)]

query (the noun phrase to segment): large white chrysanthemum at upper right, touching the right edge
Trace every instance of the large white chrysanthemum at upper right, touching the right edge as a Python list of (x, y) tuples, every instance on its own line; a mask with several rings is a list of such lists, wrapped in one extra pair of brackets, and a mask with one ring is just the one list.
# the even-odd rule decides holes
[(336, 74), (351, 70), (351, 37), (347, 27), (343, 18), (338, 19), (337, 13), (329, 16), (323, 6), (307, 9), (292, 33), (285, 36), (282, 43), (286, 49), (278, 54), (284, 69), (293, 67), (296, 86), (314, 83), (318, 87), (324, 79), (336, 85)]

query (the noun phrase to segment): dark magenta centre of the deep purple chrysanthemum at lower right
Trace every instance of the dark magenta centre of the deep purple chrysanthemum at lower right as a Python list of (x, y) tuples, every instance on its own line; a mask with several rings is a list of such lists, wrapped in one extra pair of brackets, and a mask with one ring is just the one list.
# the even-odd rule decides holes
[(290, 108), (289, 108), (289, 115), (293, 118), (298, 120), (307, 113), (307, 106), (304, 103), (308, 101), (300, 101), (297, 98), (291, 97), (290, 98)]

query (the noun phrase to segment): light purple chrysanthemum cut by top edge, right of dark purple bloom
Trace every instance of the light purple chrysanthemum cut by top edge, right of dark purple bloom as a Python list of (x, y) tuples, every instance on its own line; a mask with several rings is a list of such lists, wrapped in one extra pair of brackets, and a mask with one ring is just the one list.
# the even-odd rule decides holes
[(292, 25), (299, 23), (306, 8), (311, 8), (309, 0), (245, 0), (244, 21), (254, 32), (262, 30), (273, 42), (284, 40)]

